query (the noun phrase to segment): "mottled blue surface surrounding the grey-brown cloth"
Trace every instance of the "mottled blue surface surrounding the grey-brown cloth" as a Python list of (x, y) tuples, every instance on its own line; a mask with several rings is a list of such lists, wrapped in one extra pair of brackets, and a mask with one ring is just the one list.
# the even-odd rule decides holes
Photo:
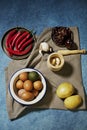
[[(40, 34), (51, 26), (78, 26), (81, 49), (87, 49), (87, 0), (0, 0), (0, 39), (15, 26)], [(0, 130), (87, 130), (87, 111), (33, 111), (10, 121), (6, 110), (4, 69), (8, 58), (0, 47)], [(87, 94), (87, 55), (81, 56), (82, 78)]]

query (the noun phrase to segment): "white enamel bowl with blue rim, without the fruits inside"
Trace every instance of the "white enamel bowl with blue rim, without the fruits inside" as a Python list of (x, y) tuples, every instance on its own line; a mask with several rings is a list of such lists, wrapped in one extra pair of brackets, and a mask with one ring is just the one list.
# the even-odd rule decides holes
[[(15, 87), (15, 82), (17, 81), (19, 74), (21, 74), (22, 72), (31, 72), (31, 71), (35, 71), (39, 74), (39, 76), (41, 78), (41, 82), (43, 84), (43, 88), (42, 88), (41, 92), (39, 92), (38, 96), (35, 99), (33, 99), (31, 101), (24, 101), (21, 98), (19, 98), (16, 94), (17, 89)], [(12, 75), (11, 80), (10, 80), (10, 84), (9, 84), (9, 91), (10, 91), (11, 96), (18, 103), (23, 104), (23, 105), (32, 105), (32, 104), (39, 102), (44, 97), (44, 95), (46, 93), (46, 80), (45, 80), (44, 76), (42, 75), (42, 73), (40, 71), (38, 71), (36, 69), (32, 69), (32, 68), (23, 68), (23, 69), (18, 70), (17, 72), (15, 72)]]

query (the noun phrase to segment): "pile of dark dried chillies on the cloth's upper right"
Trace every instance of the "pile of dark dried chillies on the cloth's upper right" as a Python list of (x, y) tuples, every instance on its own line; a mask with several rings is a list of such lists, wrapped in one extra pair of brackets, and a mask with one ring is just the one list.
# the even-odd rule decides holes
[(72, 39), (72, 31), (68, 27), (54, 27), (52, 28), (51, 38), (53, 42), (60, 47), (72, 48), (74, 44)]

